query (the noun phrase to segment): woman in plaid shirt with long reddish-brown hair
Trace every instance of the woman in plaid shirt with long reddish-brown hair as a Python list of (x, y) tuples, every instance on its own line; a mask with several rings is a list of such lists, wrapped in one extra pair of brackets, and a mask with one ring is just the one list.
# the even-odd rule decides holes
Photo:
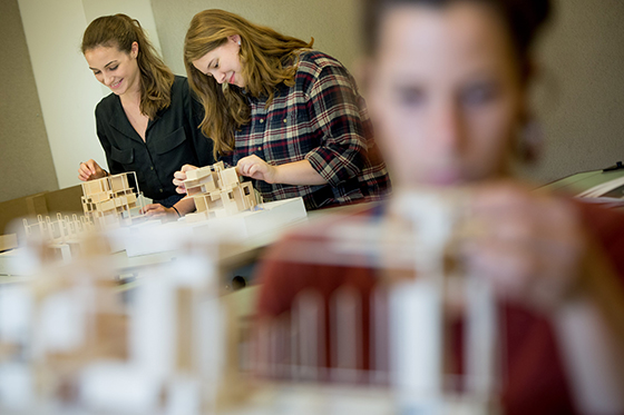
[(389, 179), (355, 82), (311, 48), (227, 11), (197, 13), (184, 60), (202, 130), (265, 200), (301, 196), (315, 209), (379, 199)]

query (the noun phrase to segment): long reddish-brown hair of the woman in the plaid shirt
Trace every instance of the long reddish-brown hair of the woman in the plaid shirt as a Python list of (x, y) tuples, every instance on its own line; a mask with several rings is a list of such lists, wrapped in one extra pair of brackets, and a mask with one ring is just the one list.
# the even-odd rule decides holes
[(184, 63), (191, 88), (204, 105), (201, 127), (215, 142), (215, 157), (234, 150), (234, 130), (250, 121), (250, 106), (240, 89), (222, 88), (213, 77), (198, 71), (193, 61), (225, 45), (234, 34), (241, 37), (245, 93), (266, 97), (266, 105), (273, 100), (277, 85), (294, 85), (298, 50), (311, 48), (314, 42), (281, 34), (224, 10), (204, 10), (193, 17), (184, 41)]

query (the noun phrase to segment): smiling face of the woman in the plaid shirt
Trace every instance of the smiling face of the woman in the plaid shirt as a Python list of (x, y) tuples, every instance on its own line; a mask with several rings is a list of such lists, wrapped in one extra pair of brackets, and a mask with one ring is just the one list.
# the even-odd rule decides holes
[(224, 45), (194, 60), (193, 66), (218, 83), (227, 82), (244, 88), (246, 82), (242, 75), (240, 41), (237, 34), (228, 37)]

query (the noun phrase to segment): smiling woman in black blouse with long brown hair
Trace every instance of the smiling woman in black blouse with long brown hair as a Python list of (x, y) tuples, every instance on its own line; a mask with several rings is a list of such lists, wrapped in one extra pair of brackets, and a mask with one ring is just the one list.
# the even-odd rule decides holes
[[(98, 81), (111, 92), (96, 108), (97, 135), (110, 174), (136, 171), (140, 190), (154, 199), (149, 216), (177, 217), (185, 202), (172, 185), (185, 164), (209, 165), (212, 141), (197, 126), (203, 109), (186, 78), (174, 76), (139, 22), (126, 14), (94, 20), (82, 53)], [(108, 175), (95, 160), (80, 164), (80, 180)], [(176, 205), (176, 206), (174, 206)]]

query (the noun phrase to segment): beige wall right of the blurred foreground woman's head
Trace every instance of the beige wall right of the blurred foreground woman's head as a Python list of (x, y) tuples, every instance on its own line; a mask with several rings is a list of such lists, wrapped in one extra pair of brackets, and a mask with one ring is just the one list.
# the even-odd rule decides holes
[(624, 159), (624, 2), (558, 0), (556, 11), (535, 85), (546, 148), (525, 169), (542, 180)]

